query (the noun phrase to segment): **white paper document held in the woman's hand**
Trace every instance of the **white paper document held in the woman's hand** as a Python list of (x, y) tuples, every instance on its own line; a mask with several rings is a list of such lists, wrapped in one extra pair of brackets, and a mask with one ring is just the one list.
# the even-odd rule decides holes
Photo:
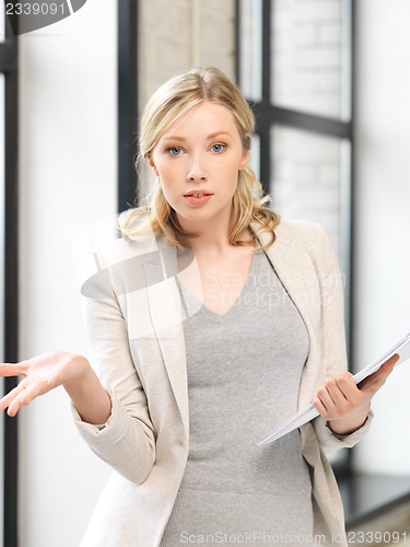
[[(395, 344), (386, 353), (384, 353), (382, 357), (379, 357), (376, 361), (373, 363), (368, 364), (364, 369), (362, 369), (360, 372), (354, 374), (353, 380), (356, 384), (362, 382), (365, 377), (370, 376), (374, 372), (378, 371), (378, 369), (382, 366), (383, 363), (385, 363), (390, 357), (394, 354), (398, 353), (399, 354), (399, 360), (396, 363), (396, 366), (399, 363), (402, 363), (407, 359), (410, 358), (410, 333), (406, 335), (401, 340), (399, 340), (397, 344)], [(281, 437), (285, 435), (290, 431), (293, 431), (296, 428), (300, 428), (304, 423), (311, 421), (313, 418), (316, 418), (318, 416), (318, 411), (315, 409), (315, 407), (311, 404), (307, 408), (304, 410), (301, 410), (300, 412), (295, 414), (290, 418), (289, 420), (280, 423), (277, 428), (272, 429), (263, 435), (258, 444), (267, 444), (276, 441), (277, 439), (280, 439)]]

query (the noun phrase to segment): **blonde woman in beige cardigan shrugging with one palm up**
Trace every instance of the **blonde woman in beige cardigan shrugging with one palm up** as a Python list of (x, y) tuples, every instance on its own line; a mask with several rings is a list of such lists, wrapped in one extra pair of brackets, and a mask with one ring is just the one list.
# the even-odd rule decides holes
[[(141, 123), (150, 206), (121, 216), (83, 286), (98, 377), (65, 352), (0, 368), (25, 375), (1, 410), (62, 385), (116, 470), (83, 547), (347, 545), (324, 451), (361, 439), (396, 358), (360, 389), (345, 372), (331, 244), (269, 209), (247, 166), (253, 130), (216, 69), (160, 88)], [(311, 401), (320, 417), (257, 446)]]

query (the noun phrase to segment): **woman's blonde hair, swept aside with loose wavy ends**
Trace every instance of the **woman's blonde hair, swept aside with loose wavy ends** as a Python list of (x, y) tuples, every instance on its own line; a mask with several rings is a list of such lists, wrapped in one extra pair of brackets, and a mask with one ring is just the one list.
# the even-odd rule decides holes
[[(245, 150), (250, 150), (255, 118), (247, 101), (226, 74), (216, 68), (207, 68), (192, 69), (172, 78), (151, 96), (141, 118), (140, 158), (148, 158), (164, 131), (204, 101), (225, 106), (233, 114), (242, 144)], [(239, 171), (233, 197), (233, 223), (230, 234), (232, 245), (247, 244), (241, 241), (239, 234), (248, 229), (251, 222), (270, 233), (269, 244), (274, 241), (279, 216), (268, 207), (269, 201), (269, 196), (263, 196), (261, 184), (253, 170), (246, 166)], [(175, 210), (165, 199), (159, 181), (154, 183), (145, 211), (149, 212), (148, 217), (141, 216), (141, 209), (130, 209), (119, 217), (119, 228), (126, 240), (153, 231), (166, 235), (177, 247), (183, 248), (186, 237), (196, 236), (183, 230)], [(139, 223), (141, 217), (145, 218), (145, 221)]]

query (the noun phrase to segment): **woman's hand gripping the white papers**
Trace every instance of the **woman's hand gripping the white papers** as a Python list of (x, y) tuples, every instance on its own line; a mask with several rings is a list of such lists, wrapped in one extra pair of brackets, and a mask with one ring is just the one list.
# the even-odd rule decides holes
[(345, 372), (319, 387), (312, 403), (333, 433), (349, 434), (364, 424), (372, 397), (384, 385), (398, 360), (398, 354), (390, 357), (378, 371), (358, 385), (352, 374)]

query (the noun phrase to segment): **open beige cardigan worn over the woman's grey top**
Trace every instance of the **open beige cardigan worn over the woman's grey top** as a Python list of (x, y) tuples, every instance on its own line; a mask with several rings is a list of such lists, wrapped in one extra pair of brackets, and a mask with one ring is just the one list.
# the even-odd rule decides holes
[[(255, 233), (263, 244), (267, 234)], [(268, 257), (309, 335), (302, 409), (327, 376), (347, 366), (342, 276), (320, 226), (282, 220), (276, 234)], [(112, 395), (113, 412), (103, 429), (74, 416), (90, 447), (117, 473), (81, 547), (154, 547), (173, 510), (189, 447), (176, 253), (165, 238), (148, 235), (118, 240), (95, 254), (95, 261), (83, 293), (93, 362)], [(313, 484), (314, 532), (326, 535), (320, 545), (347, 545), (341, 500), (324, 451), (352, 446), (368, 424), (343, 439), (332, 435), (320, 417), (301, 428)]]

